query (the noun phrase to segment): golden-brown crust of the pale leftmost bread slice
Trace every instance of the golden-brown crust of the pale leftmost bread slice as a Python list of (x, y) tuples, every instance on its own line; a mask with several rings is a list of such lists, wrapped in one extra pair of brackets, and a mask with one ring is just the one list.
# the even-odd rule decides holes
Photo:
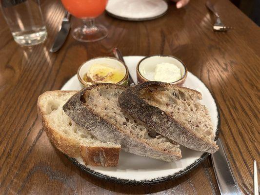
[(40, 95), (38, 98), (37, 108), (44, 131), (53, 145), (67, 156), (73, 158), (81, 156), (85, 164), (92, 166), (117, 166), (120, 155), (119, 145), (111, 146), (104, 143), (101, 143), (100, 146), (92, 143), (82, 144), (74, 137), (65, 136), (57, 131), (57, 129), (52, 127), (52, 124), (46, 117), (46, 102), (44, 102), (44, 98), (46, 98), (46, 96), (62, 97), (69, 95), (69, 97), (71, 97), (76, 92), (77, 91), (49, 91)]

